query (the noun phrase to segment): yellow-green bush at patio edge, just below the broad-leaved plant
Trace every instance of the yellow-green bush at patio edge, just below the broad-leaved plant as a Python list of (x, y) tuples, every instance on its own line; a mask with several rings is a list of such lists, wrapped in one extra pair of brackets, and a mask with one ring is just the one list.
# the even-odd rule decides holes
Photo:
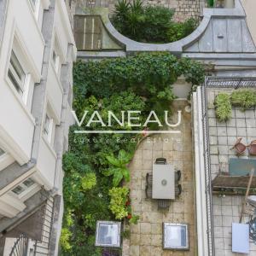
[(128, 215), (125, 202), (128, 199), (129, 189), (126, 187), (113, 188), (108, 192), (110, 196), (109, 209), (113, 212), (116, 219), (123, 219)]

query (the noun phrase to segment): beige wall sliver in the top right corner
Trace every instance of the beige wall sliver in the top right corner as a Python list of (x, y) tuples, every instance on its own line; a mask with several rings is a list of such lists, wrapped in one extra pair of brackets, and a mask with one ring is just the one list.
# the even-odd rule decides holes
[(247, 14), (247, 24), (252, 34), (253, 41), (256, 44), (256, 22), (255, 22), (256, 1), (241, 0), (241, 4)]

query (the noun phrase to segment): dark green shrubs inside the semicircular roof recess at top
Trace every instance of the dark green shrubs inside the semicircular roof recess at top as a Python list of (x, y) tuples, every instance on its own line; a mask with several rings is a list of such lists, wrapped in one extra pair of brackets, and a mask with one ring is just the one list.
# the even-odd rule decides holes
[(162, 6), (143, 6), (141, 0), (119, 0), (115, 5), (113, 26), (123, 35), (139, 42), (170, 43), (188, 36), (198, 26), (189, 19), (174, 22), (173, 9)]

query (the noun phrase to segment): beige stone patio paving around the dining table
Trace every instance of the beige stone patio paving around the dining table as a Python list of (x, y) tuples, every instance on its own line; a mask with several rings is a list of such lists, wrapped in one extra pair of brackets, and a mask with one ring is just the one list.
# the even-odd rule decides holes
[[(177, 127), (181, 134), (168, 134), (146, 138), (137, 148), (131, 162), (131, 207), (140, 216), (138, 224), (131, 225), (131, 236), (124, 241), (123, 255), (161, 256), (195, 254), (195, 212), (194, 212), (194, 175), (192, 159), (191, 114), (184, 108), (187, 101), (175, 101), (174, 113), (182, 109), (182, 124)], [(177, 114), (173, 119), (177, 120)], [(177, 122), (177, 121), (175, 121)], [(152, 172), (154, 160), (164, 157), (168, 163), (181, 170), (180, 183), (183, 192), (172, 201), (169, 211), (158, 210), (157, 201), (146, 199), (146, 174)], [(163, 250), (164, 222), (189, 224), (189, 251)]]

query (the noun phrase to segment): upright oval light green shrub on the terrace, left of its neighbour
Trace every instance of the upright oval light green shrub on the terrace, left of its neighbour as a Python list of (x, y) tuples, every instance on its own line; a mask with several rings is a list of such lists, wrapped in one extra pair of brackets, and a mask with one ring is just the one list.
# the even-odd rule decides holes
[(230, 96), (226, 93), (219, 93), (215, 98), (215, 114), (219, 122), (230, 119), (232, 106)]

